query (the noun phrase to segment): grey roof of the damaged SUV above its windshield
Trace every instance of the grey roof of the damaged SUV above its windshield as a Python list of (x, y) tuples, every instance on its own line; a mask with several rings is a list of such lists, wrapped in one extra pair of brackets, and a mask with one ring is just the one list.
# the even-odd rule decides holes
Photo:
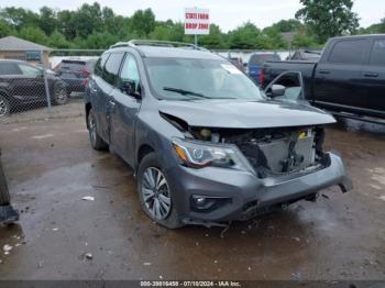
[(136, 46), (136, 47), (116, 47), (110, 51), (136, 49), (144, 57), (160, 58), (195, 58), (195, 59), (222, 59), (215, 53), (193, 48), (162, 47), (162, 46)]

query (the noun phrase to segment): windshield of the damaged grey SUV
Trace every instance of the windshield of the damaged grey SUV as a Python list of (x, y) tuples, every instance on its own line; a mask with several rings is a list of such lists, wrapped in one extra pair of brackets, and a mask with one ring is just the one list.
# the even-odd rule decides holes
[(263, 100), (260, 88), (222, 59), (146, 58), (152, 89), (168, 100)]

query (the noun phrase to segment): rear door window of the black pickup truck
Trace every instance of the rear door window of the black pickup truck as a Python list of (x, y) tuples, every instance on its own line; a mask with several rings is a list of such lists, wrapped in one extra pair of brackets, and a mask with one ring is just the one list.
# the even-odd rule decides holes
[(329, 63), (363, 64), (366, 40), (340, 41), (332, 48)]

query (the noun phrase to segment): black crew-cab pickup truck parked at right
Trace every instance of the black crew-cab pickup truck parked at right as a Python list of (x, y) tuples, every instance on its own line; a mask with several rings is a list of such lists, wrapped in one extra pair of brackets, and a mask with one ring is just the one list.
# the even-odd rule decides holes
[(305, 99), (336, 113), (385, 119), (385, 34), (329, 40), (319, 62), (268, 62), (262, 87), (300, 71)]

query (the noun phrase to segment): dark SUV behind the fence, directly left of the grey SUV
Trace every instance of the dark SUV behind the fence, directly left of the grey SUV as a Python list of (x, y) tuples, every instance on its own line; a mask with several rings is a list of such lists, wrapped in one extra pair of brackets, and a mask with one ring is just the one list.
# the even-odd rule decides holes
[(85, 92), (86, 79), (94, 73), (97, 59), (63, 59), (55, 68), (56, 76), (67, 84), (67, 92)]

